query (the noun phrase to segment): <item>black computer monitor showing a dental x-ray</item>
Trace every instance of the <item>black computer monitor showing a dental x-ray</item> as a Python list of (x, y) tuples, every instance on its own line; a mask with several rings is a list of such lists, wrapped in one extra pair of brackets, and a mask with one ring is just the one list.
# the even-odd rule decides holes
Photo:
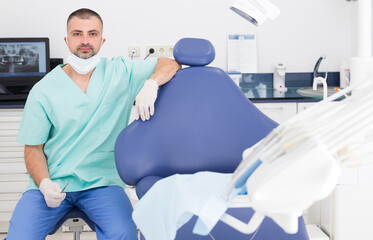
[(48, 38), (0, 38), (0, 84), (33, 85), (50, 68)]

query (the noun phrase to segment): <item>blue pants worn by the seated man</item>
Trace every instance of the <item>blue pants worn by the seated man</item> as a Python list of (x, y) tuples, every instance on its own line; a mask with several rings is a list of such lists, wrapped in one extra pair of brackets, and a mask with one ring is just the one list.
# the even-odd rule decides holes
[(19, 200), (9, 222), (8, 240), (45, 239), (57, 222), (74, 206), (96, 225), (97, 239), (136, 240), (132, 206), (123, 188), (118, 186), (67, 192), (57, 208), (50, 208), (39, 190), (28, 190)]

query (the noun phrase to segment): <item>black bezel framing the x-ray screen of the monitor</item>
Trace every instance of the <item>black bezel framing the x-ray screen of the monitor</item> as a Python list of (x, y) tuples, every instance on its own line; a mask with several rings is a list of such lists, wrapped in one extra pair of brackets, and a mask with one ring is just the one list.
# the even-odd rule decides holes
[[(50, 52), (49, 52), (49, 38), (47, 37), (11, 37), (0, 38), (0, 43), (28, 43), (28, 42), (43, 42), (45, 44), (45, 57), (46, 57), (46, 73), (50, 71)], [(33, 85), (38, 82), (42, 76), (7, 76), (2, 77), (0, 74), (0, 84), (4, 86), (27, 86)]]

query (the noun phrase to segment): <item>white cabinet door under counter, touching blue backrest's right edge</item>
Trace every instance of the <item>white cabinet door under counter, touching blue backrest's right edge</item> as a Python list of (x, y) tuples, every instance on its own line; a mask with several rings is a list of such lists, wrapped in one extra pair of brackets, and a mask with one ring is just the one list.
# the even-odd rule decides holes
[(297, 103), (254, 103), (254, 105), (277, 123), (283, 123), (297, 114)]

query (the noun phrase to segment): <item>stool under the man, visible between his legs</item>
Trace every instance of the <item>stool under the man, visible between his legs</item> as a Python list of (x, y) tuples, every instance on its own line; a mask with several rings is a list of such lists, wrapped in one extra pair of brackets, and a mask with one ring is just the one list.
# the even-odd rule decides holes
[(60, 221), (58, 221), (56, 227), (49, 233), (49, 235), (53, 235), (55, 232), (57, 232), (57, 230), (63, 224), (73, 232), (74, 240), (80, 240), (80, 234), (83, 232), (84, 226), (82, 219), (88, 224), (92, 231), (95, 231), (95, 224), (88, 218), (88, 216), (79, 208), (73, 207), (65, 214), (65, 216), (60, 219)]

